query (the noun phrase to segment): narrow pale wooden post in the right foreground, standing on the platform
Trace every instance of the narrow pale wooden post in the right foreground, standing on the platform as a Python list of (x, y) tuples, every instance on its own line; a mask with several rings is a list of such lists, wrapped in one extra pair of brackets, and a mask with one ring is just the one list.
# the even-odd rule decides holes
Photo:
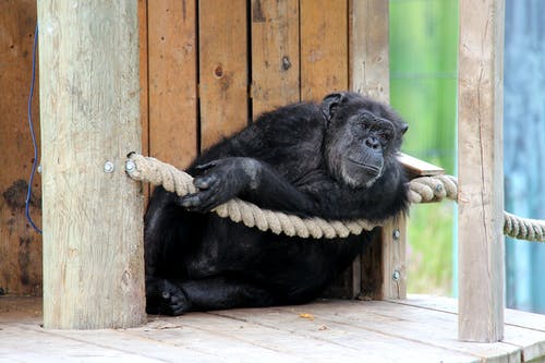
[(504, 336), (504, 0), (460, 1), (459, 339)]

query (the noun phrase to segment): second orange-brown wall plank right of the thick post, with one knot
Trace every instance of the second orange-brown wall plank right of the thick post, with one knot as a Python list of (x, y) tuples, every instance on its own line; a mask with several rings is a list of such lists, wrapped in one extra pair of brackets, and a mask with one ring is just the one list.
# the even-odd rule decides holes
[(201, 0), (201, 149), (249, 122), (246, 1)]

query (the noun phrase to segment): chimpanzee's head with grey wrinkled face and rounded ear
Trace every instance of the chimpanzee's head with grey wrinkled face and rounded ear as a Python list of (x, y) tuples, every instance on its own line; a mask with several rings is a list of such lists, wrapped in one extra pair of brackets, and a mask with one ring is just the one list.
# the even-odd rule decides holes
[(388, 168), (397, 167), (408, 124), (390, 107), (347, 92), (326, 96), (320, 110), (331, 177), (352, 187), (370, 187)]

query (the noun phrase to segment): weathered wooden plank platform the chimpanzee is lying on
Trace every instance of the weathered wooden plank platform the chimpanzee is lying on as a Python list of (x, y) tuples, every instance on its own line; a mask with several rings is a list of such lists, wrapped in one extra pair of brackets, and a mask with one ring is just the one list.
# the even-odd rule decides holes
[(0, 362), (542, 362), (545, 315), (507, 311), (504, 342), (460, 342), (456, 300), (318, 301), (45, 330), (41, 302), (0, 297)]

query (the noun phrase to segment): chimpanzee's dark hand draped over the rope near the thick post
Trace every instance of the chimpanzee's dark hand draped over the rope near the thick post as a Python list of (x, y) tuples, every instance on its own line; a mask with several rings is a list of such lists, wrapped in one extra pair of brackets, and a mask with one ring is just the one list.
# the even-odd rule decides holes
[(241, 192), (256, 189), (261, 164), (252, 158), (230, 157), (195, 167), (199, 174), (193, 179), (194, 194), (180, 198), (187, 210), (209, 211), (232, 199)]

